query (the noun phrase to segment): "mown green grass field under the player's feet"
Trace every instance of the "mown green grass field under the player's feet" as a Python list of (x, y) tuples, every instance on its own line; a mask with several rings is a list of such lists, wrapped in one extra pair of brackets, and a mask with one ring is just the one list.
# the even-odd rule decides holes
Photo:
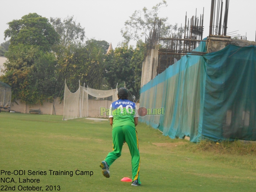
[[(172, 140), (139, 123), (136, 128), (142, 185), (134, 187), (120, 181), (132, 176), (127, 144), (122, 156), (110, 167), (110, 178), (101, 174), (100, 161), (112, 151), (109, 122), (61, 119), (62, 116), (55, 115), (0, 113), (0, 169), (11, 173), (26, 171), (26, 175), (2, 173), (2, 179), (14, 178), (16, 183), (1, 180), (1, 185), (16, 186), (16, 191), (18, 186), (32, 185), (42, 186), (43, 191), (46, 185), (56, 186), (57, 191), (59, 185), (63, 192), (256, 191), (256, 155), (254, 150), (248, 150), (254, 146), (239, 144), (239, 150), (229, 150), (225, 147), (228, 145), (216, 147), (217, 144), (210, 143), (205, 147), (186, 140)], [(46, 171), (47, 175), (28, 175), (28, 170)], [(73, 176), (50, 175), (49, 170), (73, 171)], [(93, 175), (76, 175), (76, 170), (93, 172)], [(35, 178), (40, 183), (19, 183), (19, 178), (21, 181)]]

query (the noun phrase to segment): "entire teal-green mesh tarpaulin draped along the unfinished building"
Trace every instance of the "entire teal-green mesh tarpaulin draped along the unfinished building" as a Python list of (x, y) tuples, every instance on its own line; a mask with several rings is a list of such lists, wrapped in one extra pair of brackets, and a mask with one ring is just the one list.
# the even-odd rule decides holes
[[(205, 42), (195, 51), (206, 52)], [(186, 55), (141, 88), (140, 107), (165, 108), (140, 117), (171, 138), (256, 140), (256, 47), (228, 45)]]

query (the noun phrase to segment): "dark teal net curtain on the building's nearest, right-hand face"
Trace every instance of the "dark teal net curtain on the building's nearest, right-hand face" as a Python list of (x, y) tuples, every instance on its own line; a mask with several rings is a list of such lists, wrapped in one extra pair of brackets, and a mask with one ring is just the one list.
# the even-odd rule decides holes
[(256, 140), (256, 47), (228, 45), (203, 57), (203, 137)]

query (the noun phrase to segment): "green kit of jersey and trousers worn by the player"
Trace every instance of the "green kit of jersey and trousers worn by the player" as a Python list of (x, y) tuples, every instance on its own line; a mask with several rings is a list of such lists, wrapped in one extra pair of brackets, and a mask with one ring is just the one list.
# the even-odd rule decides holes
[[(122, 101), (122, 102), (121, 102)], [(128, 106), (134, 108), (134, 113), (129, 115), (126, 113), (125, 110), (117, 110), (117, 107), (122, 109), (126, 107), (125, 101)], [(138, 142), (138, 135), (134, 125), (134, 117), (137, 117), (138, 113), (135, 114), (136, 106), (135, 103), (129, 100), (117, 100), (112, 103), (110, 109), (113, 106), (112, 114), (109, 117), (113, 117), (113, 130), (112, 130), (112, 138), (113, 138), (113, 151), (108, 153), (105, 161), (107, 162), (108, 166), (110, 166), (118, 157), (121, 156), (122, 147), (124, 141), (127, 143), (131, 156), (132, 156), (132, 181), (138, 180), (140, 184), (140, 153), (139, 153), (139, 142)], [(120, 103), (122, 105), (119, 105)], [(115, 105), (117, 103), (117, 105)], [(126, 107), (127, 109), (127, 107)], [(121, 112), (122, 111), (122, 112)], [(137, 111), (136, 111), (137, 112)], [(122, 115), (120, 115), (122, 113)]]

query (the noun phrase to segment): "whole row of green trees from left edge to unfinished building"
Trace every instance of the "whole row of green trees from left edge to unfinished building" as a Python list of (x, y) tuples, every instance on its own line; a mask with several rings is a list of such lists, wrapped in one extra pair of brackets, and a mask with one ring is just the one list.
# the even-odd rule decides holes
[[(2, 50), (8, 58), (5, 75), (0, 77), (12, 87), (12, 99), (20, 98), (29, 104), (52, 101), (66, 80), (75, 92), (80, 84), (93, 89), (106, 90), (116, 83), (139, 98), (144, 45), (138, 40), (135, 49), (117, 48), (106, 55), (109, 43), (90, 39), (83, 42), (84, 28), (72, 17), (63, 20), (47, 18), (36, 13), (9, 22)], [(56, 31), (57, 32), (56, 32)], [(10, 44), (10, 46), (9, 46)], [(2, 44), (1, 44), (2, 45)], [(60, 96), (61, 97), (61, 96)]]

